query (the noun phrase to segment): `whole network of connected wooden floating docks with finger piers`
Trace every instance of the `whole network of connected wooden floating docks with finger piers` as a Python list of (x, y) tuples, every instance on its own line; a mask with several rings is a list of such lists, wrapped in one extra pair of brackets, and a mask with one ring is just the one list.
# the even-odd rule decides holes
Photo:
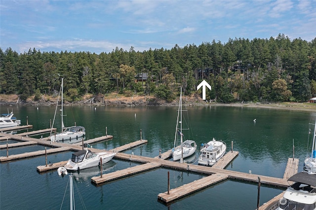
[[(21, 128), (21, 127), (19, 127), (19, 128)], [(57, 147), (57, 148), (48, 149), (46, 151), (41, 150), (41, 151), (35, 151), (35, 152), (28, 152), (28, 153), (24, 153), (24, 154), (10, 155), (8, 157), (0, 157), (0, 162), (10, 161), (10, 160), (18, 160), (18, 159), (23, 159), (23, 158), (30, 158), (30, 157), (35, 157), (35, 156), (39, 156), (39, 155), (64, 152), (64, 151), (70, 151), (70, 150), (78, 151), (78, 150), (82, 149), (82, 146), (80, 146), (82, 144), (82, 142), (79, 142), (76, 144), (66, 144), (66, 143), (46, 141), (46, 140), (42, 140), (42, 139), (39, 140), (39, 139), (35, 139), (35, 138), (30, 138), (27, 136), (23, 137), (21, 135), (11, 135), (11, 134), (4, 134), (4, 133), (0, 133), (0, 136), (3, 136), (5, 139), (31, 141), (32, 144), (37, 143), (37, 144), (46, 145), (46, 146), (50, 146), (50, 147)], [(90, 140), (89, 142), (97, 142), (101, 139), (106, 140), (106, 139), (110, 139), (110, 138), (112, 138), (112, 136), (96, 138), (96, 139)], [(88, 141), (84, 141), (84, 142), (88, 142)], [(147, 142), (148, 142), (147, 140), (141, 139), (141, 140), (130, 142), (128, 144), (125, 144), (125, 145), (122, 145), (122, 146), (119, 146), (115, 149), (110, 150), (113, 152), (117, 152), (117, 154), (114, 157), (115, 159), (122, 159), (122, 160), (126, 160), (126, 161), (133, 161), (133, 162), (144, 163), (144, 164), (139, 165), (139, 166), (135, 166), (135, 167), (131, 167), (131, 168), (127, 168), (124, 170), (120, 170), (120, 171), (117, 171), (114, 173), (105, 174), (105, 175), (102, 175), (102, 177), (101, 177), (101, 175), (92, 177), (91, 182), (98, 185), (101, 183), (105, 183), (107, 181), (116, 180), (116, 179), (126, 177), (129, 175), (135, 175), (135, 174), (142, 173), (142, 172), (149, 171), (149, 170), (153, 170), (153, 169), (156, 169), (159, 167), (207, 175), (206, 177), (203, 177), (202, 179), (199, 179), (199, 180), (196, 180), (194, 182), (180, 186), (178, 188), (172, 189), (171, 191), (169, 190), (169, 193), (164, 192), (164, 193), (158, 194), (159, 201), (162, 201), (164, 203), (169, 203), (169, 202), (183, 198), (189, 194), (197, 192), (198, 190), (204, 189), (212, 184), (218, 183), (218, 182), (225, 180), (225, 179), (237, 179), (237, 180), (242, 180), (242, 181), (246, 181), (246, 182), (258, 183), (259, 182), (258, 177), (260, 177), (260, 181), (263, 184), (271, 185), (271, 186), (278, 186), (278, 187), (287, 187), (288, 186), (287, 178), (290, 177), (291, 175), (296, 174), (297, 170), (298, 170), (298, 159), (293, 159), (293, 158), (288, 159), (288, 163), (286, 165), (286, 169), (285, 169), (285, 173), (284, 173), (283, 178), (276, 178), (276, 177), (270, 177), (270, 176), (264, 176), (264, 175), (254, 175), (251, 173), (242, 173), (242, 172), (225, 170), (224, 168), (227, 167), (227, 165), (229, 165), (229, 163), (234, 158), (236, 158), (238, 155), (238, 152), (234, 152), (234, 151), (228, 152), (227, 154), (225, 154), (225, 156), (223, 158), (221, 158), (221, 160), (218, 161), (217, 164), (214, 165), (213, 167), (199, 166), (199, 165), (194, 165), (194, 164), (179, 163), (179, 162), (175, 162), (175, 161), (165, 160), (168, 157), (170, 157), (170, 155), (172, 155), (171, 150), (168, 150), (167, 152), (161, 154), (161, 158), (157, 158), (157, 157), (151, 158), (151, 157), (143, 157), (143, 156), (138, 156), (138, 155), (130, 155), (130, 154), (121, 153), (121, 151), (131, 149), (133, 147), (139, 146), (139, 145), (147, 143)], [(25, 142), (25, 143), (28, 143), (28, 142)], [(15, 146), (17, 146), (18, 144), (19, 143), (15, 144)], [(14, 144), (11, 144), (11, 145), (14, 146)], [(20, 144), (20, 145), (22, 145), (22, 144)], [(6, 145), (4, 145), (4, 147), (6, 147)], [(104, 151), (104, 150), (95, 149), (95, 148), (89, 148), (89, 149), (91, 149), (91, 151), (94, 151), (94, 152)], [(165, 156), (162, 156), (162, 155), (165, 155)], [(37, 170), (39, 172), (55, 170), (55, 169), (59, 168), (60, 166), (64, 166), (66, 164), (66, 162), (67, 161), (62, 161), (59, 163), (49, 164), (47, 166), (38, 166)], [(279, 195), (279, 196), (281, 196), (281, 195)]]

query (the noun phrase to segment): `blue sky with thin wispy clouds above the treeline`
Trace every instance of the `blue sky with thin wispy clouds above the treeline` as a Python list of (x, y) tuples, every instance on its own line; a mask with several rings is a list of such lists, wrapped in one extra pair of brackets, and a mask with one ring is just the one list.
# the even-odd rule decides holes
[(18, 53), (171, 49), (229, 38), (316, 38), (316, 0), (0, 0), (0, 47)]

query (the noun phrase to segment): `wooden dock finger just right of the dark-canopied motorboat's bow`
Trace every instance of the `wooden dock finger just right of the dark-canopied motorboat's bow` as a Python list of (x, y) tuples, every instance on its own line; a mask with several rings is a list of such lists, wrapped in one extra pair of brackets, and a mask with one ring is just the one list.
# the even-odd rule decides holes
[(113, 181), (115, 179), (119, 179), (126, 176), (135, 175), (135, 174), (139, 174), (145, 171), (156, 169), (158, 167), (160, 167), (160, 164), (158, 163), (146, 163), (146, 164), (130, 167), (127, 169), (123, 169), (120, 171), (112, 172), (110, 174), (103, 174), (102, 178), (101, 176), (94, 176), (91, 178), (91, 181), (94, 184), (101, 184), (101, 183)]

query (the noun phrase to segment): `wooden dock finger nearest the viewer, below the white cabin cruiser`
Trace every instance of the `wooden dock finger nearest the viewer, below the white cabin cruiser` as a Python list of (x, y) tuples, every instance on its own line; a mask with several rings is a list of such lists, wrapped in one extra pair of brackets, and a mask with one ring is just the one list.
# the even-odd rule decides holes
[(191, 183), (184, 184), (175, 189), (171, 189), (169, 191), (169, 194), (168, 194), (168, 191), (164, 193), (160, 193), (158, 194), (158, 200), (163, 201), (164, 203), (169, 203), (174, 200), (185, 197), (187, 195), (190, 195), (194, 192), (197, 192), (201, 189), (204, 189), (210, 185), (221, 182), (227, 178), (228, 178), (228, 175), (223, 175), (223, 174), (209, 175), (201, 179), (195, 180)]

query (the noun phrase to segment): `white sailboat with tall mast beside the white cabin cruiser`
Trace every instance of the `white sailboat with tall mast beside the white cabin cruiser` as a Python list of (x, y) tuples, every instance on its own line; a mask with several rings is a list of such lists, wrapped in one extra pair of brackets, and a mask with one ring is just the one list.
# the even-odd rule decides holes
[[(180, 120), (179, 120), (179, 117), (180, 117)], [(180, 163), (183, 163), (183, 158), (193, 155), (197, 149), (197, 144), (194, 140), (183, 141), (184, 135), (182, 133), (182, 130), (183, 129), (182, 129), (182, 87), (181, 87), (176, 132), (175, 132), (175, 137), (174, 137), (174, 145), (172, 149), (173, 161), (180, 160)], [(178, 136), (180, 136), (180, 146), (176, 147), (176, 141), (177, 141)]]

